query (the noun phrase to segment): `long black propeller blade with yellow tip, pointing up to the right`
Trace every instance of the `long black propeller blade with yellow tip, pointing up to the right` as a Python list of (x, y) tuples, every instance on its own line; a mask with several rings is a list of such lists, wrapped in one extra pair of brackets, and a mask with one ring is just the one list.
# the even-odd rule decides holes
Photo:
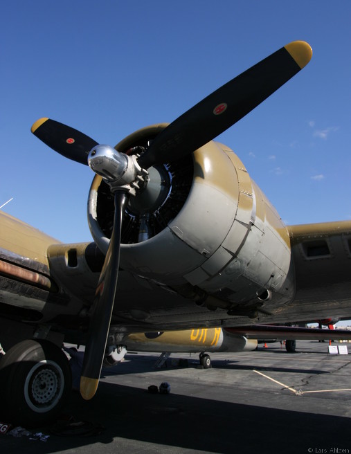
[(234, 125), (311, 60), (312, 48), (294, 41), (226, 83), (156, 136), (138, 158), (144, 169), (183, 158)]

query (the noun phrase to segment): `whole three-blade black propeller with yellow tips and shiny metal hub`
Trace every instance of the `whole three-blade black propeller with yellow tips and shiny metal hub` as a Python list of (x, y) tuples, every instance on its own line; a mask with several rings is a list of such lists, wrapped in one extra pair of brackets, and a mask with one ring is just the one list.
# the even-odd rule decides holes
[[(268, 98), (303, 69), (311, 57), (312, 49), (303, 41), (291, 42), (280, 48), (174, 120), (156, 136), (145, 153), (138, 157), (136, 162), (134, 160), (134, 167), (138, 167), (139, 170), (140, 167), (147, 169), (159, 163), (176, 161), (194, 152)], [(32, 132), (55, 152), (79, 163), (87, 164), (89, 156), (91, 165), (91, 157), (99, 152), (95, 140), (55, 120), (48, 118), (37, 120)], [(115, 150), (111, 152), (111, 147), (108, 152), (102, 150), (102, 154), (105, 154), (113, 168), (120, 166), (124, 158), (130, 159)], [(96, 171), (93, 165), (91, 167)], [(131, 176), (130, 181), (127, 181), (127, 185), (117, 176), (119, 174), (123, 172), (118, 170), (116, 174), (109, 172), (107, 175), (107, 182), (115, 197), (114, 228), (100, 274), (89, 325), (80, 383), (80, 392), (84, 399), (91, 399), (98, 387), (111, 315), (116, 301), (123, 207), (130, 189), (129, 183), (133, 185), (133, 178), (140, 179), (141, 173), (136, 171), (134, 177)]]

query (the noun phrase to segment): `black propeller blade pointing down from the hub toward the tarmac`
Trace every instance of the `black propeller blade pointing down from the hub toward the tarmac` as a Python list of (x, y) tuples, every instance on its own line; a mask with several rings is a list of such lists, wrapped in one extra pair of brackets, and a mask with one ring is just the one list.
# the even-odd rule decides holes
[(102, 361), (105, 354), (109, 325), (111, 322), (120, 261), (120, 231), (123, 207), (127, 192), (117, 190), (114, 194), (115, 213), (109, 248), (98, 281), (94, 310), (89, 326), (89, 338), (84, 352), (80, 394), (83, 399), (91, 399), (98, 389)]

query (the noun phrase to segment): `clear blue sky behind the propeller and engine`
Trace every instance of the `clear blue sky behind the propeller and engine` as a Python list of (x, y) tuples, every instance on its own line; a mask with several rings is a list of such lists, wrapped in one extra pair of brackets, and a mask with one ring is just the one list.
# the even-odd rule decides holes
[(116, 145), (303, 39), (312, 62), (219, 140), (287, 224), (351, 219), (350, 17), (346, 0), (2, 2), (0, 205), (89, 241), (93, 173), (40, 143), (37, 118)]

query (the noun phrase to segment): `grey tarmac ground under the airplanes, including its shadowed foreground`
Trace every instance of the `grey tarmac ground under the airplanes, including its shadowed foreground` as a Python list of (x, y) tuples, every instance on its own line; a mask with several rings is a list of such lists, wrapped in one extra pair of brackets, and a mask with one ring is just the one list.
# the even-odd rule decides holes
[[(1, 452), (351, 453), (351, 344), (341, 344), (350, 354), (329, 354), (328, 343), (296, 343), (294, 354), (279, 342), (211, 354), (210, 369), (197, 354), (172, 354), (159, 369), (159, 354), (127, 354), (102, 370), (91, 401), (72, 392), (64, 410), (96, 435), (35, 428), (46, 441), (0, 435)], [(163, 381), (170, 394), (148, 391)]]

